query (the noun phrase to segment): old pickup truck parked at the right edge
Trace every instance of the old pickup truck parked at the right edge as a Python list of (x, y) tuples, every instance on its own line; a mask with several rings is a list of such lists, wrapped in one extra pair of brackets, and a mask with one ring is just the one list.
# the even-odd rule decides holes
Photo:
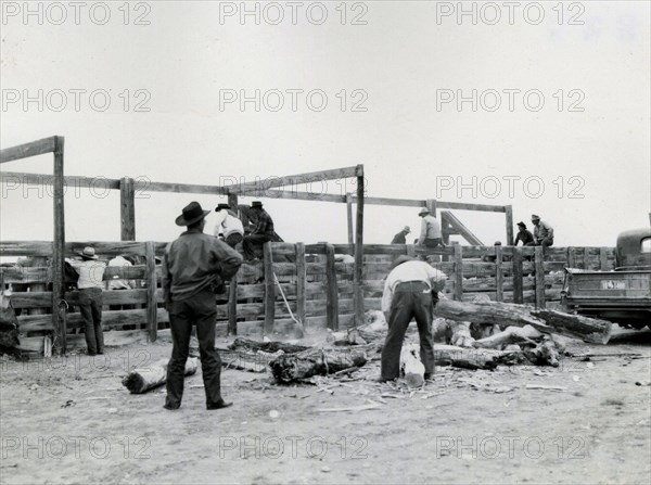
[(617, 237), (614, 271), (565, 268), (561, 299), (567, 310), (651, 328), (651, 229), (633, 229)]

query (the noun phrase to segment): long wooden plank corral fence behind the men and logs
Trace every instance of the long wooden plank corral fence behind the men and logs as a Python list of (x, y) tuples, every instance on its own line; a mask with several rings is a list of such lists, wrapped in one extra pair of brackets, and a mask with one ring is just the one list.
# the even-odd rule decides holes
[[(156, 339), (168, 328), (162, 307), (159, 258), (165, 242), (66, 243), (66, 256), (86, 245), (95, 247), (102, 259), (119, 254), (135, 256), (140, 264), (107, 267), (104, 280), (136, 280), (132, 290), (105, 291), (103, 324), (107, 345), (127, 344), (145, 335)], [(306, 332), (346, 329), (355, 324), (354, 271), (350, 244), (267, 243), (264, 260), (243, 264), (227, 292), (216, 295), (217, 333), (261, 336), (291, 334), (302, 321)], [(365, 245), (362, 266), (363, 309), (380, 309), (384, 279), (399, 254), (423, 254), (444, 259), (432, 265), (448, 277), (445, 293), (454, 299), (472, 299), (477, 294), (494, 301), (529, 303), (538, 307), (561, 298), (565, 267), (613, 270), (612, 247), (496, 247), (460, 246), (423, 251), (412, 245)], [(12, 284), (12, 306), (20, 311), (21, 348), (42, 353), (52, 334), (51, 242), (2, 242), (0, 255), (29, 256), (41, 266), (2, 267), (3, 286)], [(495, 263), (486, 259), (496, 258)], [(498, 263), (497, 259), (502, 259)], [(36, 289), (36, 290), (35, 290)], [(17, 291), (24, 290), (24, 291)], [(28, 291), (26, 291), (28, 290)], [(281, 291), (282, 290), (282, 291)], [(284, 297), (283, 297), (284, 296)], [(67, 347), (84, 346), (84, 322), (74, 311), (77, 292), (65, 302)], [(112, 309), (115, 306), (129, 309)], [(131, 308), (132, 307), (132, 308)], [(293, 317), (293, 318), (292, 318)]]

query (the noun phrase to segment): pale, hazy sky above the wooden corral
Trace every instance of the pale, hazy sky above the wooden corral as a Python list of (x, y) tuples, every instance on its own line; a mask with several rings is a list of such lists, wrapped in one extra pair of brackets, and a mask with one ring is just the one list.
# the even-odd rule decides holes
[[(369, 196), (512, 205), (557, 246), (649, 225), (649, 2), (1, 3), (0, 145), (63, 136), (65, 174), (98, 178), (66, 193), (67, 241), (119, 240), (103, 178), (218, 186), (357, 164)], [(51, 174), (52, 156), (1, 169)], [(193, 200), (226, 202), (139, 192), (137, 240), (175, 239)], [(263, 201), (285, 241), (347, 241), (345, 204)], [(502, 214), (455, 214), (506, 241)], [(2, 186), (0, 239), (52, 240), (52, 220), (51, 189)], [(368, 205), (365, 242), (406, 225), (410, 242), (417, 208)]]

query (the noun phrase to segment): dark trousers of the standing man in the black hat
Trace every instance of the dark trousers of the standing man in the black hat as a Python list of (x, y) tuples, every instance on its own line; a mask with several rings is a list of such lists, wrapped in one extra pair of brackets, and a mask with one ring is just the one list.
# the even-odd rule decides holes
[(165, 404), (168, 407), (178, 408), (181, 405), (192, 326), (196, 326), (206, 406), (221, 403), (221, 359), (215, 349), (216, 319), (215, 295), (209, 289), (191, 298), (171, 302), (169, 326), (174, 346), (167, 366), (167, 399)]

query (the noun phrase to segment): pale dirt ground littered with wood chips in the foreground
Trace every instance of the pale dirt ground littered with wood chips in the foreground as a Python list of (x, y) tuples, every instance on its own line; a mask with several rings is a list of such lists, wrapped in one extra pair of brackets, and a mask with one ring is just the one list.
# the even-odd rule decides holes
[[(378, 360), (298, 386), (228, 369), (222, 394), (234, 405), (218, 411), (205, 409), (199, 371), (174, 412), (164, 387), (120, 385), (170, 348), (3, 360), (0, 483), (651, 483), (649, 344), (577, 343), (638, 356), (559, 368), (441, 367), (418, 390), (373, 382)], [(337, 408), (357, 410), (322, 411)]]

